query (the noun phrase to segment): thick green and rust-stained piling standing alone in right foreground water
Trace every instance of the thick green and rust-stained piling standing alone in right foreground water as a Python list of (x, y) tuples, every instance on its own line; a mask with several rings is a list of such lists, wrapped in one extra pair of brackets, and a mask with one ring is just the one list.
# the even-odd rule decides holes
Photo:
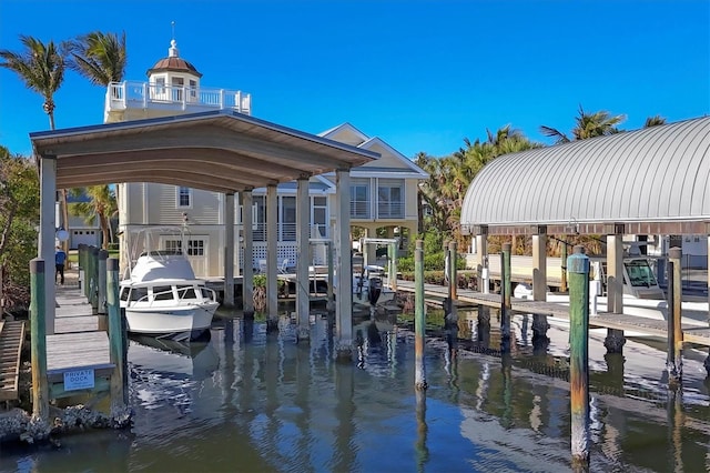
[(575, 465), (589, 464), (589, 258), (576, 245), (569, 273), (569, 390), (571, 453)]

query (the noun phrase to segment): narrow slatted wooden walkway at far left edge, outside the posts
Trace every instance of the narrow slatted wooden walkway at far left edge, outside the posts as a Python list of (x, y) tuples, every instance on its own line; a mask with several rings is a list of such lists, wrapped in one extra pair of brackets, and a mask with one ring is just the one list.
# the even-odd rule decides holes
[(0, 320), (0, 401), (19, 399), (20, 355), (24, 333), (23, 321)]

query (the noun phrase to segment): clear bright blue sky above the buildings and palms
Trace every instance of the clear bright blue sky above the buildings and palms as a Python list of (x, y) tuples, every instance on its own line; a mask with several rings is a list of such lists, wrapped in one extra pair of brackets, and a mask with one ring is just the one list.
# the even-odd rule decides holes
[[(180, 56), (203, 87), (252, 94), (253, 115), (318, 133), (349, 122), (404, 155), (446, 155), (510, 124), (568, 132), (581, 104), (678, 121), (710, 111), (710, 2), (0, 0), (0, 48), (125, 31), (128, 80)], [(104, 90), (68, 71), (58, 128), (103, 120)], [(0, 144), (29, 154), (41, 97), (0, 69)]]

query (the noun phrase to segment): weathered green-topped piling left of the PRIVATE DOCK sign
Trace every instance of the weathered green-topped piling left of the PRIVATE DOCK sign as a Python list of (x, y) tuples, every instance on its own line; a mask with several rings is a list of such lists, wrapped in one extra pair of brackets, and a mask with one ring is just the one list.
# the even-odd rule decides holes
[(44, 260), (30, 261), (30, 340), (32, 353), (32, 416), (49, 421), (47, 381), (47, 325), (44, 311)]

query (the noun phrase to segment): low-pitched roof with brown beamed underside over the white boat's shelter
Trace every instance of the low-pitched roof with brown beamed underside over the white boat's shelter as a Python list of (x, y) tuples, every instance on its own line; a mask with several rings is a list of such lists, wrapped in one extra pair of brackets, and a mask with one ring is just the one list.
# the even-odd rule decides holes
[(379, 158), (230, 110), (30, 133), (57, 160), (59, 189), (158, 182), (239, 192)]

